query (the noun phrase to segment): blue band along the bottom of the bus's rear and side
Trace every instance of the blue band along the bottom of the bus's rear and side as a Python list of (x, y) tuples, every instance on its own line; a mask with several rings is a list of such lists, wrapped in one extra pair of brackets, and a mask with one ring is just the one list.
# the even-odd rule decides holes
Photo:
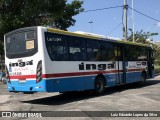
[[(116, 86), (116, 74), (104, 75), (106, 78), (106, 83), (108, 87)], [(141, 73), (127, 73), (126, 83), (137, 82), (140, 80)], [(7, 83), (9, 91), (19, 91), (19, 92), (65, 92), (65, 91), (83, 91), (94, 89), (94, 81), (96, 75), (93, 76), (83, 76), (83, 77), (68, 77), (59, 79), (43, 79), (41, 82), (36, 84), (35, 80), (28, 80), (26, 83), (20, 83), (19, 81), (11, 81), (12, 84)], [(121, 81), (123, 80), (123, 75), (120, 74)]]

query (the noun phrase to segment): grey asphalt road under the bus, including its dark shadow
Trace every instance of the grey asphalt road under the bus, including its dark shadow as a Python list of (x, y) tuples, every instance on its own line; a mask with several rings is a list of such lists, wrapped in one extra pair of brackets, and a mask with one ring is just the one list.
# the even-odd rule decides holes
[[(0, 111), (80, 111), (74, 114), (76, 119), (105, 119), (104, 117), (89, 116), (86, 111), (160, 111), (160, 76), (148, 80), (145, 85), (128, 84), (107, 88), (102, 96), (91, 92), (75, 93), (10, 93), (6, 85), (0, 83)], [(66, 112), (67, 113), (67, 112)], [(66, 115), (65, 113), (65, 115)], [(48, 112), (53, 115), (56, 113)], [(59, 116), (57, 113), (57, 116)], [(126, 119), (128, 117), (107, 117), (107, 119)], [(0, 118), (1, 119), (1, 118)], [(22, 118), (12, 118), (22, 119)], [(30, 119), (30, 118), (24, 118)], [(33, 119), (33, 118), (32, 118)], [(34, 118), (37, 119), (37, 118)], [(38, 120), (44, 118), (38, 118)], [(47, 119), (53, 119), (47, 117)], [(64, 119), (54, 117), (54, 119)], [(65, 117), (75, 119), (75, 117)], [(130, 119), (158, 120), (160, 117), (130, 117)]]

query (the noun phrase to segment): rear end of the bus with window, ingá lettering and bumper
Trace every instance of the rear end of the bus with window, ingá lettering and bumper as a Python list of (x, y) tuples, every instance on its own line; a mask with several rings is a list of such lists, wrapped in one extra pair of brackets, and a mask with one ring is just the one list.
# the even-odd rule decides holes
[(10, 92), (46, 91), (42, 80), (41, 27), (22, 28), (4, 36), (7, 87)]

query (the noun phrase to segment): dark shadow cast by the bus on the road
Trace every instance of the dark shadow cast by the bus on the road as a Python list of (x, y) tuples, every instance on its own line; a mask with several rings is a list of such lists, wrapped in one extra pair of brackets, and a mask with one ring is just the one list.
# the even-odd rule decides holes
[[(109, 88), (106, 88), (105, 93), (102, 96), (122, 92), (128, 89), (144, 88), (144, 87), (156, 85), (159, 83), (160, 83), (160, 80), (149, 80), (145, 85), (139, 85), (137, 83), (134, 83), (134, 84), (126, 84), (121, 86), (109, 87)], [(62, 93), (56, 96), (39, 98), (39, 99), (34, 99), (29, 101), (21, 101), (21, 102), (30, 103), (30, 104), (41, 104), (41, 105), (62, 105), (62, 104), (76, 102), (76, 101), (94, 98), (94, 97), (97, 97), (97, 96), (94, 95), (93, 92), (91, 91), (68, 92), (68, 93)]]

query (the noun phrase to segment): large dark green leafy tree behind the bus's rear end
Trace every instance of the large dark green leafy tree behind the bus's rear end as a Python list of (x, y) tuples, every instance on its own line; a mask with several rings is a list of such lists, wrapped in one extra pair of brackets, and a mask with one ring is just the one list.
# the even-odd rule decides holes
[(76, 22), (73, 16), (83, 11), (82, 4), (79, 0), (0, 0), (0, 42), (5, 33), (22, 27), (46, 25), (67, 30)]

